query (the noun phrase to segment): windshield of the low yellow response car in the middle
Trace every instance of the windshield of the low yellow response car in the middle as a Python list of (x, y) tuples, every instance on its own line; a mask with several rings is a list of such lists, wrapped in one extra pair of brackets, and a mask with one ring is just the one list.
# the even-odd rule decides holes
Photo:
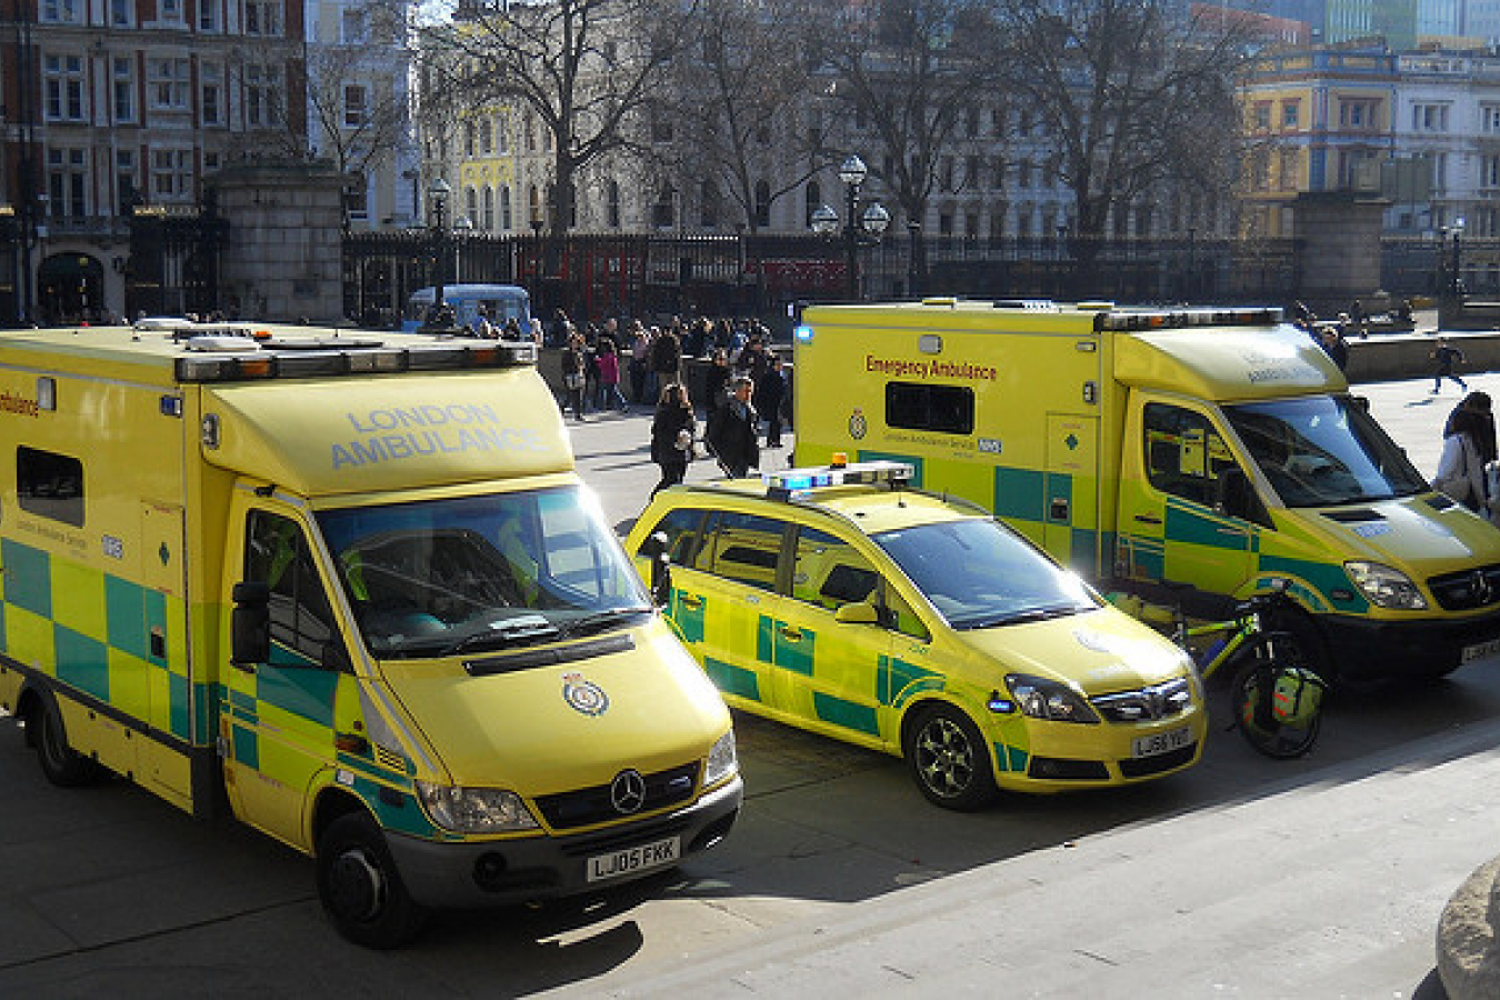
[(954, 628), (1090, 612), (1089, 588), (999, 522), (982, 517), (873, 535)]

